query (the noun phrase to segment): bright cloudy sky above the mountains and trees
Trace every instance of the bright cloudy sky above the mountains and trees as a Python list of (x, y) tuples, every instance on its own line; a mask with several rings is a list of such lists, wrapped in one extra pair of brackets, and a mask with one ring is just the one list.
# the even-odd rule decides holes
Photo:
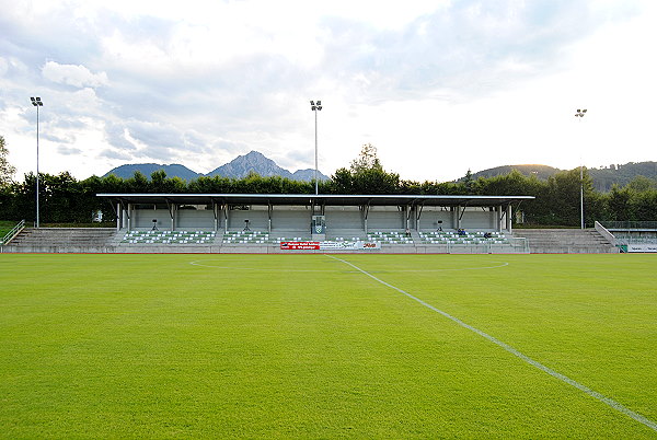
[(322, 100), (324, 174), (367, 142), (416, 181), (656, 161), (655, 4), (0, 0), (0, 135), (22, 180), (41, 96), (44, 172), (208, 172), (251, 150), (295, 171)]

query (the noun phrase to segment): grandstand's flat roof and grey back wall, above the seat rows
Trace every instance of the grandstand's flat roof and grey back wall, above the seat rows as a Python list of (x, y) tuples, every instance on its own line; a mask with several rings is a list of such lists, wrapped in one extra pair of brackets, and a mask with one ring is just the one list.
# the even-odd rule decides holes
[[(512, 206), (533, 196), (97, 194), (116, 211), (117, 230), (369, 231), (466, 230), (511, 233)], [(322, 227), (321, 231), (318, 227)]]

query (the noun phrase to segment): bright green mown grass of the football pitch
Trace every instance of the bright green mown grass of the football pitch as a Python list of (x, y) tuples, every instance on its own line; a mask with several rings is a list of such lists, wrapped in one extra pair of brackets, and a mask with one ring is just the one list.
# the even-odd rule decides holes
[[(337, 257), (657, 420), (656, 256)], [(0, 280), (0, 437), (656, 437), (323, 255), (3, 254)]]

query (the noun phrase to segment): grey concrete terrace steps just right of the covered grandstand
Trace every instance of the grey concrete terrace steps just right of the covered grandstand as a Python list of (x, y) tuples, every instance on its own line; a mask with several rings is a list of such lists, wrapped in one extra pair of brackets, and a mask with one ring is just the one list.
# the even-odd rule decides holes
[(615, 254), (618, 247), (595, 229), (516, 229), (532, 254)]

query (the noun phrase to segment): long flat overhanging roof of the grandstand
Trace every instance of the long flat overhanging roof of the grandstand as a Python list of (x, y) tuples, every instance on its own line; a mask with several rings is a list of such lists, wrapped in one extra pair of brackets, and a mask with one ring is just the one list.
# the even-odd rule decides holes
[(532, 200), (533, 196), (463, 196), (463, 195), (314, 195), (314, 194), (96, 194), (130, 204), (219, 202), (229, 205), (327, 205), (327, 206), (476, 206), (488, 207)]

